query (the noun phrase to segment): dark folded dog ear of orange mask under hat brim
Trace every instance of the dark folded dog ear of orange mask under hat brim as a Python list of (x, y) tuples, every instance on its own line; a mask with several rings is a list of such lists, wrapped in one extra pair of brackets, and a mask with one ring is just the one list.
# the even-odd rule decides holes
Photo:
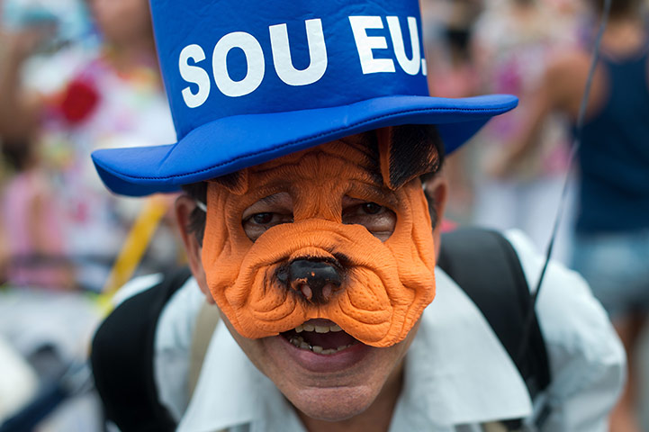
[(436, 172), (442, 139), (435, 126), (406, 124), (376, 130), (383, 184), (395, 190), (415, 177)]

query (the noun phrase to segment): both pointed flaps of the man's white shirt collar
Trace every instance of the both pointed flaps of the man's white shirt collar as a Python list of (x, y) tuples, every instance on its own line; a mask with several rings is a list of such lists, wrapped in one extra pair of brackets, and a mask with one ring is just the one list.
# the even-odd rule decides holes
[[(391, 430), (420, 430), (423, 425), (437, 430), (530, 415), (527, 387), (482, 313), (438, 267), (436, 279), (436, 299), (424, 311), (406, 357)], [(303, 430), (284, 397), (225, 326), (217, 326), (204, 365), (210, 366), (201, 372), (179, 432), (246, 423), (257, 423), (253, 430), (273, 430), (260, 426), (276, 421), (282, 422), (282, 430)], [(415, 424), (416, 429), (410, 428)]]

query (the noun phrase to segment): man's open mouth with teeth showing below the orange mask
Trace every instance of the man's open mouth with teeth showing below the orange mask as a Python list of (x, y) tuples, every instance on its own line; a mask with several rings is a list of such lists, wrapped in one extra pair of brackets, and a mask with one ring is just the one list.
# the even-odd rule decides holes
[(336, 354), (358, 343), (356, 338), (329, 320), (309, 320), (295, 329), (284, 331), (282, 336), (294, 347), (323, 356)]

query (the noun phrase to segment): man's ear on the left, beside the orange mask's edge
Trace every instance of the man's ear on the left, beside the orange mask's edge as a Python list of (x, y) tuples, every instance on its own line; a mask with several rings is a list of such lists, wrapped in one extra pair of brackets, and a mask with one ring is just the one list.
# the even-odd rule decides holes
[(214, 299), (210, 289), (207, 286), (205, 278), (205, 270), (203, 269), (203, 261), (201, 259), (201, 247), (198, 238), (194, 232), (189, 231), (189, 220), (192, 211), (196, 208), (196, 202), (187, 195), (180, 195), (176, 199), (176, 220), (178, 221), (178, 228), (180, 229), (180, 237), (185, 244), (185, 251), (187, 253), (187, 260), (189, 261), (189, 268), (192, 270), (192, 275), (196, 279), (198, 286), (205, 294), (205, 300), (208, 303), (214, 304)]

